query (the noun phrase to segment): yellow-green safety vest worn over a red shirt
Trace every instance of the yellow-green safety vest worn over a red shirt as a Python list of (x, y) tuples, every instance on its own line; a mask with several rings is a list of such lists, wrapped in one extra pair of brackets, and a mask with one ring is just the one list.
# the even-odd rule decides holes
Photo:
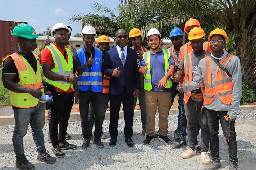
[[(51, 71), (58, 75), (71, 75), (73, 73), (73, 55), (71, 51), (66, 48), (68, 56), (67, 63), (63, 54), (55, 45), (48, 45), (46, 48), (50, 50), (55, 64), (55, 68), (52, 68)], [(63, 91), (67, 91), (70, 87), (73, 89), (73, 84), (70, 82), (51, 80), (49, 78), (46, 78), (46, 82)]]

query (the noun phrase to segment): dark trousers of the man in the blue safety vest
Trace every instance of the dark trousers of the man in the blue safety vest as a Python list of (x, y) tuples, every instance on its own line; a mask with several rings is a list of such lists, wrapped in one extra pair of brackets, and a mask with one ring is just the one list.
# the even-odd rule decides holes
[(90, 128), (88, 122), (89, 103), (92, 102), (95, 131), (94, 138), (100, 139), (102, 132), (102, 93), (79, 90), (79, 110), (81, 117), (82, 136), (84, 139), (90, 139)]

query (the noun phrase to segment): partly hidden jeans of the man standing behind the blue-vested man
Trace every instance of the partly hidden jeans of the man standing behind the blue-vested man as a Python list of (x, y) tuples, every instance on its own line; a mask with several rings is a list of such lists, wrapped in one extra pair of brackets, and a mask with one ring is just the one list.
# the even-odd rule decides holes
[[(109, 103), (109, 93), (107, 94), (103, 94), (103, 101), (102, 101), (102, 121), (105, 120), (106, 117), (106, 109), (108, 107), (108, 103)], [(88, 114), (88, 121), (89, 121), (89, 128), (90, 131), (92, 130), (93, 124), (94, 124), (94, 114), (93, 114), (93, 105), (92, 102), (90, 101), (89, 104), (89, 114)]]

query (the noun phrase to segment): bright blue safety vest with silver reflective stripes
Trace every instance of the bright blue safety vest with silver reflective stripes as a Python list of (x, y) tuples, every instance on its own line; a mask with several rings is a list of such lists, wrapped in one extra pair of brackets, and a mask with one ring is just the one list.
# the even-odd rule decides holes
[[(78, 58), (80, 60), (80, 66), (82, 67), (86, 62), (86, 55), (83, 48), (76, 51)], [(91, 66), (91, 72), (89, 72), (88, 67), (83, 71), (81, 75), (78, 76), (77, 87), (78, 90), (87, 91), (89, 86), (93, 92), (102, 92), (102, 51), (94, 50), (94, 61)]]

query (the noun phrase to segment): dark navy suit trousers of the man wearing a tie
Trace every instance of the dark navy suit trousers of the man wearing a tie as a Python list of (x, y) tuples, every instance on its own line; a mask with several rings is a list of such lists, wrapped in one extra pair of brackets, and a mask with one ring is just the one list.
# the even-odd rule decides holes
[(125, 137), (131, 137), (133, 134), (133, 94), (127, 94), (124, 90), (122, 94), (111, 95), (110, 94), (110, 136), (111, 138), (117, 138), (118, 136), (118, 119), (119, 112), (121, 107), (121, 102), (123, 101), (123, 110), (124, 110), (124, 120), (125, 128), (124, 134)]

